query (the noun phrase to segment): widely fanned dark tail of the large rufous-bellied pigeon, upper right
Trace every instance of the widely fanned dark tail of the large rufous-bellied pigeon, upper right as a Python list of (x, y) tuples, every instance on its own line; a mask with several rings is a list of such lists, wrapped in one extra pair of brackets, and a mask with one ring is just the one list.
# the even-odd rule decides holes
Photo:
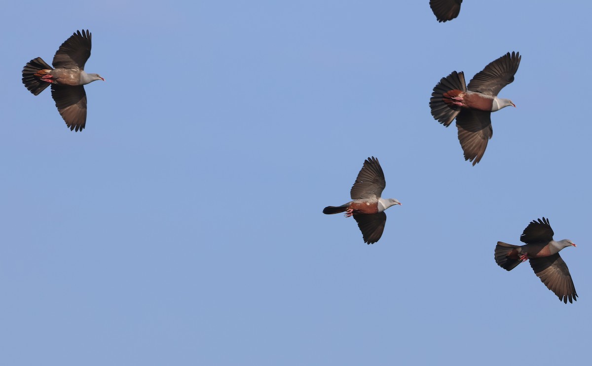
[[(451, 91), (457, 91), (452, 92)], [(456, 118), (456, 115), (461, 113), (459, 105), (451, 104), (449, 94), (456, 95), (459, 92), (466, 91), (465, 74), (462, 72), (453, 71), (446, 78), (440, 79), (440, 82), (434, 86), (432, 98), (430, 98), (430, 108), (435, 120), (448, 127), (449, 124)], [(446, 94), (446, 96), (445, 96)], [(446, 102), (448, 100), (448, 102)]]

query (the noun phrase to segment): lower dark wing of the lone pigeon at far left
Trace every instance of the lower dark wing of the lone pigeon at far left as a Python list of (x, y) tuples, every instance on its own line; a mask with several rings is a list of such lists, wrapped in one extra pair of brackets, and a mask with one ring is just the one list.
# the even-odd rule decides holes
[(52, 84), (52, 97), (57, 110), (70, 130), (81, 130), (86, 124), (86, 92), (82, 85)]

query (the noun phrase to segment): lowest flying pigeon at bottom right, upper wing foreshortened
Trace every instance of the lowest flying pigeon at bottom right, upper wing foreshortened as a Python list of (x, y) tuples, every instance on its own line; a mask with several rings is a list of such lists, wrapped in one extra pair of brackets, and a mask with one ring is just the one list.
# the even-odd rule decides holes
[(571, 280), (570, 270), (559, 256), (559, 251), (575, 244), (568, 239), (553, 240), (553, 229), (549, 219), (532, 221), (520, 236), (520, 241), (526, 245), (511, 245), (497, 242), (496, 262), (501, 268), (510, 271), (520, 263), (530, 259), (530, 267), (549, 290), (567, 304), (567, 300), (577, 300), (574, 281)]

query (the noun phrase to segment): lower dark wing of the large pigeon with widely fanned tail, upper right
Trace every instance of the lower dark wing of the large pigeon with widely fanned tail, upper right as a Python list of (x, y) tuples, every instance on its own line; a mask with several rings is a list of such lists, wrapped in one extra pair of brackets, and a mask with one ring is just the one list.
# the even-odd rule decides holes
[(472, 161), (473, 165), (477, 164), (485, 153), (487, 142), (493, 136), (491, 112), (463, 109), (456, 116), (456, 127), (465, 160)]

